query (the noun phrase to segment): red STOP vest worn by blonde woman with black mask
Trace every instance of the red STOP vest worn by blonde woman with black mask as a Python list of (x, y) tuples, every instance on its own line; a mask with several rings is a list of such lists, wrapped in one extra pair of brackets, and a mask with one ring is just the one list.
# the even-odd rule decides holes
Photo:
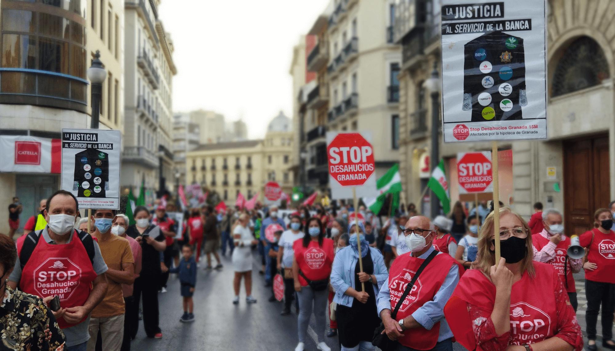
[[(523, 273), (510, 291), (510, 345), (533, 344), (555, 335), (557, 303), (554, 291), (560, 284), (560, 277), (548, 263), (533, 261), (533, 265), (536, 276)], [(496, 287), (482, 271), (468, 269), (459, 279), (453, 296), (491, 313)], [(482, 349), (478, 347), (477, 350)]]

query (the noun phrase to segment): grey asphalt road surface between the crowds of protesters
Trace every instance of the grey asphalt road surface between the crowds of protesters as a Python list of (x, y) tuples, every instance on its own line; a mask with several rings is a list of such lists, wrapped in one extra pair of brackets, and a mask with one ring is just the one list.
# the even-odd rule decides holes
[[(205, 271), (204, 262), (197, 276), (197, 289), (194, 294), (195, 322), (181, 323), (179, 318), (183, 313), (181, 307), (179, 280), (172, 275), (169, 279), (169, 292), (159, 293), (160, 326), (162, 339), (148, 339), (140, 325), (137, 338), (132, 342), (132, 350), (295, 350), (298, 342), (297, 315), (293, 313), (281, 316), (282, 303), (267, 301), (271, 295), (270, 288), (265, 288), (263, 276), (258, 274), (258, 263), (255, 257), (253, 266), (253, 293), (258, 299), (256, 304), (245, 303), (245, 290), (242, 284), (240, 303), (232, 304), (233, 271), (230, 257), (222, 257), (224, 268), (220, 271)], [(585, 298), (583, 274), (575, 274), (579, 299), (577, 317), (585, 331)], [(600, 318), (600, 317), (599, 317)], [(316, 350), (317, 336), (314, 333), (314, 317), (308, 330), (306, 351)], [(585, 333), (584, 333), (585, 334)], [(598, 349), (601, 345), (600, 319), (598, 319)], [(337, 337), (327, 338), (331, 350), (339, 351)], [(587, 339), (585, 339), (587, 341)], [(455, 351), (466, 350), (459, 344), (454, 344)]]

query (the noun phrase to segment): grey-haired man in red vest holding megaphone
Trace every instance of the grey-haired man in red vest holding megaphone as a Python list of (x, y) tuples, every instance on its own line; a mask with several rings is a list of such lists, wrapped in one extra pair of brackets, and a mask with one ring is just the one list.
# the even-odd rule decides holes
[(564, 234), (561, 212), (556, 209), (547, 209), (542, 212), (544, 229), (532, 236), (534, 244), (534, 261), (550, 263), (560, 276), (570, 304), (574, 311), (577, 309), (576, 288), (574, 287), (573, 273), (581, 271), (583, 259), (574, 260), (567, 255), (570, 238)]

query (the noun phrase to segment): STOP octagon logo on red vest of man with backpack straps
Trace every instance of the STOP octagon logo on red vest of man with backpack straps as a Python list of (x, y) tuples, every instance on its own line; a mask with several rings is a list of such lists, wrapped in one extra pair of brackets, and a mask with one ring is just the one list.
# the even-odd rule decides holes
[(58, 295), (68, 300), (79, 287), (81, 268), (66, 257), (50, 257), (34, 269), (34, 290), (39, 296)]

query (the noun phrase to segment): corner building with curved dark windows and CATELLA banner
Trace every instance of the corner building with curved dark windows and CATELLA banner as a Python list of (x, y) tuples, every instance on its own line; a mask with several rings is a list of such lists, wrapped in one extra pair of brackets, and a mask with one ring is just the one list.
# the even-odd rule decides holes
[[(23, 228), (60, 188), (62, 129), (90, 126), (86, 70), (97, 50), (108, 71), (100, 128), (121, 129), (124, 7), (119, 0), (2, 0), (0, 28), (0, 201), (20, 198)], [(0, 233), (8, 230), (0, 221)]]

